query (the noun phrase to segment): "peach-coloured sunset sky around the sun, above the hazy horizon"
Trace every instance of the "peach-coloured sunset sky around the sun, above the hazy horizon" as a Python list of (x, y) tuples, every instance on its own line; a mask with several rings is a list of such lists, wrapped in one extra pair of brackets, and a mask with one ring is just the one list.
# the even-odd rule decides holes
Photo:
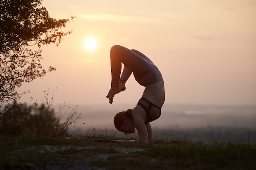
[[(50, 17), (76, 16), (61, 44), (44, 46), (42, 65), (56, 67), (23, 83), (21, 102), (103, 105), (110, 89), (110, 48), (149, 57), (162, 72), (166, 104), (256, 105), (255, 0), (43, 0)], [(85, 48), (95, 39), (96, 48)], [(136, 105), (143, 93), (130, 76), (112, 105)], [(32, 99), (31, 99), (32, 98)], [(110, 105), (110, 104), (109, 104)]]

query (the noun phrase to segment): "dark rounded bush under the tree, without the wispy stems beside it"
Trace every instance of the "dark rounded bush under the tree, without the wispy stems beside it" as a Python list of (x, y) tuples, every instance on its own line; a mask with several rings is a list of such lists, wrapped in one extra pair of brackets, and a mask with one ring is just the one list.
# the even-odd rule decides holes
[(0, 132), (7, 135), (32, 132), (38, 135), (58, 135), (58, 118), (54, 109), (45, 105), (16, 104), (5, 106), (0, 118)]

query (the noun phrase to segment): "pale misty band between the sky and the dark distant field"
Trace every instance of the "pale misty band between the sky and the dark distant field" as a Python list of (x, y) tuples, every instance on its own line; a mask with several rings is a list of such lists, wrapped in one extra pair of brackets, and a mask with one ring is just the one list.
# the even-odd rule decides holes
[[(66, 111), (66, 109), (70, 107)], [(114, 129), (113, 118), (119, 111), (133, 108), (132, 105), (66, 105), (65, 116), (75, 108), (83, 117), (76, 126), (83, 129)], [(52, 109), (58, 111), (59, 105)], [(65, 117), (62, 119), (65, 121)], [(214, 106), (214, 105), (164, 105), (159, 119), (151, 122), (153, 128), (189, 129), (213, 127), (238, 127), (256, 130), (256, 106)], [(84, 124), (83, 124), (84, 123)]]

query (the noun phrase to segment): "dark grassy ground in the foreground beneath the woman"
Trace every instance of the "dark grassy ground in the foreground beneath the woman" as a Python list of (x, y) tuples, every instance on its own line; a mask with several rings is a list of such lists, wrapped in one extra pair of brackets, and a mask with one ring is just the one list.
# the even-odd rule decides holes
[(118, 139), (90, 134), (79, 139), (40, 135), (0, 136), (0, 169), (33, 164), (36, 167), (75, 165), (109, 170), (253, 170), (256, 146), (204, 144), (190, 139), (154, 139), (154, 144), (102, 143), (91, 138)]

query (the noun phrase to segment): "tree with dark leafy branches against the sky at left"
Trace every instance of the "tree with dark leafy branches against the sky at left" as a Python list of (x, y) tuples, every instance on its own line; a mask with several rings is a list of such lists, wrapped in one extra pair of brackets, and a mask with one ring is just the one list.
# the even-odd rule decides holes
[(62, 32), (74, 19), (56, 20), (49, 17), (42, 0), (0, 1), (0, 109), (2, 103), (21, 96), (16, 91), (23, 82), (30, 82), (56, 70), (45, 70), (40, 47), (56, 44), (72, 31)]

